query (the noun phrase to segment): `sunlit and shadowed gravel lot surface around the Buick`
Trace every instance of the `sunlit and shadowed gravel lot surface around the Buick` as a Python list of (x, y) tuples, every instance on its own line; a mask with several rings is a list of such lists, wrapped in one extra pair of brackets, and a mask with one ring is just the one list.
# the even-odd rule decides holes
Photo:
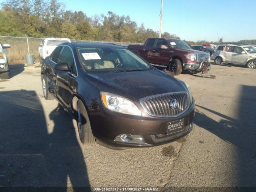
[(196, 100), (193, 131), (121, 151), (81, 146), (72, 117), (44, 99), (39, 64), (10, 70), (0, 80), (0, 186), (256, 186), (256, 70), (212, 65), (216, 79), (177, 76)]

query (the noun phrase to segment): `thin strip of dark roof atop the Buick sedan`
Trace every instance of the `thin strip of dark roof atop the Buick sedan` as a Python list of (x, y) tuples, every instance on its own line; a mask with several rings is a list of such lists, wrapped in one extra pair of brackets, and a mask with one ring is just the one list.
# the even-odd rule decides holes
[(61, 45), (69, 45), (73, 48), (123, 48), (122, 46), (113, 43), (84, 43), (84, 42), (74, 42), (74, 43), (62, 43)]

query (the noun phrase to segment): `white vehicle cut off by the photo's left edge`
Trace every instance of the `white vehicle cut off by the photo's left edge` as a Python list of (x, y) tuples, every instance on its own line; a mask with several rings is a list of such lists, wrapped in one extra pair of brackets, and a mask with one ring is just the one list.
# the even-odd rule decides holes
[(0, 42), (0, 79), (9, 79), (10, 70), (8, 65), (8, 60), (6, 56), (6, 51), (4, 49), (10, 48), (9, 44), (1, 44)]

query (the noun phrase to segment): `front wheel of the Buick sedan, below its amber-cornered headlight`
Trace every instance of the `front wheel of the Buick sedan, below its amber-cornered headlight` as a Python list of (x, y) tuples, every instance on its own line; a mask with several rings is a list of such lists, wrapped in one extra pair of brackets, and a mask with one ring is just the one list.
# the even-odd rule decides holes
[(81, 100), (78, 100), (77, 106), (77, 118), (76, 123), (78, 127), (78, 134), (82, 144), (88, 146), (95, 143), (95, 138), (92, 134), (92, 128), (88, 113), (86, 108)]

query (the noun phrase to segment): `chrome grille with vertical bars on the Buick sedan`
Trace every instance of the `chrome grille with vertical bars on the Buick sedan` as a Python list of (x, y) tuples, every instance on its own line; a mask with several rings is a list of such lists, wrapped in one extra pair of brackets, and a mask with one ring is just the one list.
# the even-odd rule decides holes
[[(173, 99), (179, 103), (177, 109), (170, 107), (170, 101)], [(189, 96), (187, 92), (166, 93), (142, 98), (140, 99), (140, 104), (152, 116), (178, 116), (188, 108)]]

